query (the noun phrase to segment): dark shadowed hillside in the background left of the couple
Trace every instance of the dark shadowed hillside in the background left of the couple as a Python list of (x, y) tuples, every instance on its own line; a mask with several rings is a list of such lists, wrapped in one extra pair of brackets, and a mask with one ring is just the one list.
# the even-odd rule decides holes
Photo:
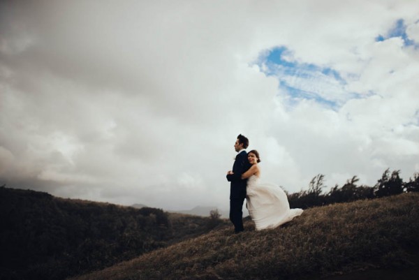
[(65, 279), (223, 223), (227, 221), (0, 187), (0, 279)]

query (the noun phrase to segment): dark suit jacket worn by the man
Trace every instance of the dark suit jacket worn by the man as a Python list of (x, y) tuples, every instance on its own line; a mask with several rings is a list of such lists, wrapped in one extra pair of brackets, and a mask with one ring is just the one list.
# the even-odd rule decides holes
[(235, 157), (233, 164), (233, 175), (227, 175), (227, 181), (230, 182), (230, 200), (241, 200), (246, 198), (247, 179), (242, 179), (242, 174), (249, 170), (250, 163), (247, 159), (247, 152), (242, 151)]

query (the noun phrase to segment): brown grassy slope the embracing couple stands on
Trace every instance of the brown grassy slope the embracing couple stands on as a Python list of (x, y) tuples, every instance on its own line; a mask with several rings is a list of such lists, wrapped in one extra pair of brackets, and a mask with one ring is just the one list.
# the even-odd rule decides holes
[(272, 230), (221, 228), (73, 280), (315, 279), (418, 267), (419, 194), (307, 209)]

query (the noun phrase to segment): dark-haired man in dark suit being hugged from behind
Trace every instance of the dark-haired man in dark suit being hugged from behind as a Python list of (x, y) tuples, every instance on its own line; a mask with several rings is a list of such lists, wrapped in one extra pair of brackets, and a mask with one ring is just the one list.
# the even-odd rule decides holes
[(246, 148), (249, 146), (249, 139), (243, 135), (238, 135), (234, 145), (237, 152), (233, 164), (233, 170), (227, 172), (227, 181), (230, 182), (230, 221), (234, 225), (234, 232), (240, 233), (244, 230), (242, 221), (242, 208), (244, 198), (246, 198), (247, 179), (241, 176), (250, 168), (247, 160)]

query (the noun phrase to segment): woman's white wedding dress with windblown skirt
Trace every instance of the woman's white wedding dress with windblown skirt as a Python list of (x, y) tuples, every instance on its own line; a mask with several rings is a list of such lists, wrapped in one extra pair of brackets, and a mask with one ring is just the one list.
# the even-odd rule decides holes
[(276, 228), (295, 216), (302, 214), (302, 209), (290, 209), (286, 193), (275, 184), (260, 183), (256, 175), (247, 180), (246, 207), (256, 230)]

